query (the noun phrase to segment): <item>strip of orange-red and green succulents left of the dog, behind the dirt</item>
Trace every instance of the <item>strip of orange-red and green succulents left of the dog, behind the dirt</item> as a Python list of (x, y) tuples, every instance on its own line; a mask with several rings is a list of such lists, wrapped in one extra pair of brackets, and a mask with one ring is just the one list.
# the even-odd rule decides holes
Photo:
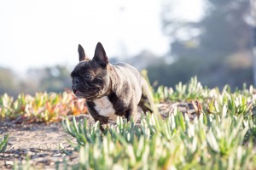
[(8, 94), (0, 96), (0, 119), (20, 122), (56, 122), (61, 117), (85, 113), (84, 99), (76, 99), (70, 92), (62, 94), (20, 94), (17, 99)]

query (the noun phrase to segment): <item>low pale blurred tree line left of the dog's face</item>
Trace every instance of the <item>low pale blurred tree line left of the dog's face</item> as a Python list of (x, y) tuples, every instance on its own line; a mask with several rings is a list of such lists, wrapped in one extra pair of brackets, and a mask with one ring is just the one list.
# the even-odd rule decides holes
[(0, 68), (0, 95), (17, 96), (20, 93), (63, 92), (71, 88), (70, 69), (67, 65), (54, 65), (45, 68), (32, 68), (20, 77), (14, 71)]

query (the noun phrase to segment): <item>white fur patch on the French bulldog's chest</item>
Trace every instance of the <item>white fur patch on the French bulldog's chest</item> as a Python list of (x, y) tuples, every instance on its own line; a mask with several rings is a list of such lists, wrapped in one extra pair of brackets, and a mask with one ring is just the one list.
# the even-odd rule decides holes
[(94, 109), (101, 116), (106, 116), (109, 119), (116, 120), (117, 116), (114, 114), (112, 103), (109, 101), (107, 96), (102, 97), (101, 99), (96, 99), (94, 101)]

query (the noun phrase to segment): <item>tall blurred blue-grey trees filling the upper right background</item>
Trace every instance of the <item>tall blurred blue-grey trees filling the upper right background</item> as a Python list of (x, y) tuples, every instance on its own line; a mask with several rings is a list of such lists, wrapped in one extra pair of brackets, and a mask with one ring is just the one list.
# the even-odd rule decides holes
[(176, 61), (172, 65), (148, 67), (150, 80), (175, 85), (197, 75), (209, 87), (222, 88), (229, 83), (232, 88), (241, 88), (241, 82), (253, 84), (253, 27), (248, 24), (248, 20), (253, 20), (250, 18), (250, 2), (205, 2), (205, 16), (199, 22), (172, 17), (175, 4), (165, 4), (163, 30), (172, 39), (170, 56)]

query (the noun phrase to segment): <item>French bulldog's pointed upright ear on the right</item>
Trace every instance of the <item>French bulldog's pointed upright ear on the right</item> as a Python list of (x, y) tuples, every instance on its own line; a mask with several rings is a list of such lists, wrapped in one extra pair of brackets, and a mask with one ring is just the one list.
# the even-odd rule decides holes
[(101, 42), (98, 42), (96, 45), (93, 60), (96, 60), (96, 62), (103, 67), (106, 67), (108, 65), (108, 57)]

